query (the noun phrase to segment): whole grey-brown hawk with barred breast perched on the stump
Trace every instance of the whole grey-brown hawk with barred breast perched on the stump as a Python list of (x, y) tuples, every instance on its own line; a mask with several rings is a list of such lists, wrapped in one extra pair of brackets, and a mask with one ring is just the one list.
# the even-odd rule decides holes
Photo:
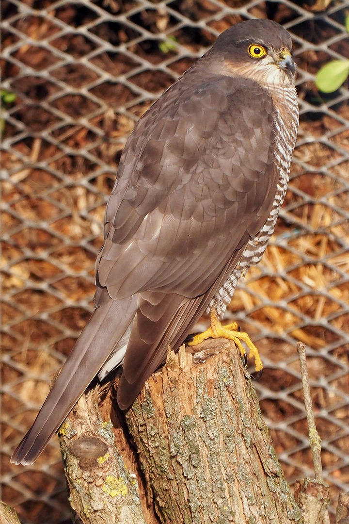
[(110, 195), (96, 263), (95, 310), (14, 452), (31, 464), (90, 381), (122, 365), (131, 405), (202, 313), (221, 319), (237, 282), (272, 235), (298, 127), (291, 38), (271, 20), (224, 31), (137, 123)]

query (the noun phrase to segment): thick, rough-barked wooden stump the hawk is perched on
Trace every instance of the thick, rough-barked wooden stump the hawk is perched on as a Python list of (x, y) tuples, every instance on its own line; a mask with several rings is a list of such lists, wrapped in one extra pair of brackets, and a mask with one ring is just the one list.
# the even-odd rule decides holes
[(149, 501), (171, 524), (300, 523), (235, 345), (200, 346), (169, 353), (126, 413)]

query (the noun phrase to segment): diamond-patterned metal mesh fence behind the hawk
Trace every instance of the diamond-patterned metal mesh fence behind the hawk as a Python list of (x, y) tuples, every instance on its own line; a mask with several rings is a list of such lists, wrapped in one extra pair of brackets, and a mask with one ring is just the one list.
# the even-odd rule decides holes
[(221, 31), (253, 17), (291, 32), (301, 124), (275, 235), (227, 316), (260, 348), (256, 387), (290, 483), (312, 472), (296, 352), (307, 344), (332, 509), (348, 489), (349, 91), (313, 82), (349, 58), (347, 16), (348, 0), (2, 2), (2, 498), (23, 523), (70, 521), (57, 440), (33, 466), (9, 457), (93, 309), (126, 138)]

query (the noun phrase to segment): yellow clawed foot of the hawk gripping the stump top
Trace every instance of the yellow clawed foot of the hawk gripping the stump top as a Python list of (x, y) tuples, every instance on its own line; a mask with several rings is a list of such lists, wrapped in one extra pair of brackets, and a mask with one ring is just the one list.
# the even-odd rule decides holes
[(238, 330), (239, 326), (236, 322), (222, 326), (216, 315), (212, 312), (211, 325), (208, 330), (204, 331), (204, 333), (195, 335), (193, 341), (188, 343), (188, 346), (196, 346), (197, 344), (200, 344), (209, 338), (219, 339), (222, 337), (223, 339), (232, 340), (238, 346), (240, 355), (246, 361), (246, 351), (241, 343), (241, 341), (243, 341), (250, 350), (249, 358), (254, 357), (256, 372), (261, 372), (263, 369), (263, 364), (256, 346), (253, 344), (247, 333)]

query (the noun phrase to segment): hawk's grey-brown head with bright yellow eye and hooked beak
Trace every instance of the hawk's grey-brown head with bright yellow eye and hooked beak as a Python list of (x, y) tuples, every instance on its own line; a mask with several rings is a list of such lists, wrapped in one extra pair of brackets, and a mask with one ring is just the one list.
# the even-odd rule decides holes
[[(272, 20), (254, 19), (224, 31), (212, 46), (220, 73), (263, 86), (294, 85), (295, 62), (289, 32)], [(211, 56), (212, 58), (212, 56)]]

